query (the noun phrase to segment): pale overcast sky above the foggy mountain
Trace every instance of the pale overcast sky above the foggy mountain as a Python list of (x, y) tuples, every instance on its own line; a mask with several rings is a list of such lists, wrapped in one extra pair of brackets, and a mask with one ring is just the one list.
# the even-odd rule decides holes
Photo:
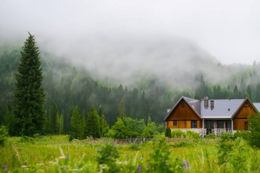
[(178, 36), (222, 64), (252, 64), (260, 62), (259, 9), (252, 0), (1, 0), (0, 41), (24, 42), (30, 31), (38, 44), (59, 49), (89, 37)]

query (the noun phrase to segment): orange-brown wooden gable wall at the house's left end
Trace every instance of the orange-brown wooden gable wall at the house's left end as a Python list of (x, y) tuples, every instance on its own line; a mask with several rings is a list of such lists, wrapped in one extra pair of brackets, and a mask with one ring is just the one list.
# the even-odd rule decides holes
[[(181, 107), (182, 103), (184, 104), (184, 107)], [(177, 120), (177, 126), (173, 126), (173, 120)], [(190, 129), (192, 123), (191, 120), (197, 120), (197, 128), (202, 128), (203, 123), (200, 117), (198, 117), (190, 105), (187, 105), (184, 99), (181, 99), (166, 119), (166, 127), (172, 129)]]

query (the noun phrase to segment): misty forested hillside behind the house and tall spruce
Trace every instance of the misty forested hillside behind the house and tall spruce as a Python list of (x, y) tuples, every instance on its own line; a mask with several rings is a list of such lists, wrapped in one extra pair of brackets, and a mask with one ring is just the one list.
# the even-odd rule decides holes
[[(5, 48), (0, 51), (1, 122), (4, 121), (6, 115), (12, 114), (14, 74), (20, 56), (18, 49)], [(197, 99), (205, 95), (209, 98), (249, 96), (252, 101), (260, 102), (260, 64), (257, 63), (252, 66), (240, 64), (223, 66), (216, 60), (203, 57), (203, 59), (196, 59), (196, 64), (187, 62), (186, 68), (190, 66), (193, 69), (192, 72), (188, 72), (185, 66), (183, 70), (181, 66), (176, 68), (174, 59), (170, 59), (174, 66), (172, 68), (169, 64), (167, 66), (170, 69), (169, 73), (174, 72), (174, 75), (164, 75), (166, 69), (164, 72), (158, 72), (157, 75), (154, 73), (158, 69), (151, 73), (140, 72), (138, 75), (142, 80), (133, 79), (135, 84), (127, 88), (124, 80), (120, 85), (120, 83), (111, 83), (110, 81), (113, 80), (109, 77), (107, 80), (97, 78), (89, 69), (87, 71), (86, 68), (72, 65), (71, 62), (58, 60), (44, 51), (41, 57), (44, 73), (43, 86), (46, 93), (45, 109), (49, 114), (51, 105), (57, 105), (59, 114), (64, 114), (65, 131), (69, 130), (70, 117), (75, 105), (81, 111), (83, 109), (89, 111), (92, 105), (98, 109), (101, 105), (107, 122), (112, 125), (119, 114), (120, 105), (131, 118), (146, 120), (148, 116), (151, 116), (155, 122), (163, 122), (166, 109), (172, 107), (181, 95)], [(190, 57), (192, 58), (194, 57)], [(198, 66), (198, 64), (202, 65)], [(206, 65), (207, 68), (203, 68)], [(95, 68), (103, 67), (96, 66)], [(174, 78), (176, 76), (177, 79)], [(171, 83), (175, 84), (171, 86)]]

